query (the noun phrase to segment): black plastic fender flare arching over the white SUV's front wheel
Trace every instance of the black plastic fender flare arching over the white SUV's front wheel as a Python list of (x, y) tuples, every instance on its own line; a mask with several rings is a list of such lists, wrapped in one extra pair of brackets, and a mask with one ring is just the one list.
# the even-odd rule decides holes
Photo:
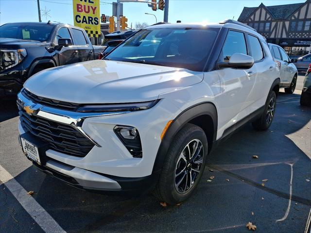
[[(163, 163), (166, 158), (166, 154), (170, 148), (170, 145), (173, 141), (175, 135), (184, 127), (186, 123), (188, 123), (191, 119), (194, 119), (198, 116), (208, 115), (211, 117), (214, 126), (214, 133), (213, 133), (213, 142), (216, 141), (217, 136), (217, 127), (218, 127), (218, 116), (217, 116), (217, 109), (215, 105), (211, 102), (203, 102), (197, 105), (191, 106), (190, 108), (184, 110), (180, 113), (173, 122), (171, 123), (170, 127), (168, 128), (167, 132), (165, 133), (160, 147), (157, 151), (155, 163), (153, 167), (153, 173), (158, 174), (160, 173)], [(214, 144), (214, 143), (213, 143)]]

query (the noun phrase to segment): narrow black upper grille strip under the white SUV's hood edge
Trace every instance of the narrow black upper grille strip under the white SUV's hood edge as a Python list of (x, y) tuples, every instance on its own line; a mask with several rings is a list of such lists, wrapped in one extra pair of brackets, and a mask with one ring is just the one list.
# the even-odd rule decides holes
[(61, 101), (61, 100), (52, 100), (52, 99), (48, 99), (45, 97), (40, 97), (37, 96), (33, 93), (31, 93), (30, 91), (27, 91), (26, 89), (22, 90), (22, 94), (27, 97), (27, 99), (32, 100), (35, 103), (40, 103), (42, 105), (45, 106), (50, 106), (50, 107), (56, 107), (58, 109), (65, 109), (65, 110), (69, 110), (69, 111), (74, 111), (76, 110), (80, 104), (79, 103), (71, 103), (71, 102), (65, 102), (65, 101)]

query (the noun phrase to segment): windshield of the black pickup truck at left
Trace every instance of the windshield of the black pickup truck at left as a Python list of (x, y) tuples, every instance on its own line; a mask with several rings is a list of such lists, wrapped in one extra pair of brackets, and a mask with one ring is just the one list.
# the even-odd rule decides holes
[(49, 24), (4, 24), (0, 27), (1, 38), (46, 41), (52, 33)]

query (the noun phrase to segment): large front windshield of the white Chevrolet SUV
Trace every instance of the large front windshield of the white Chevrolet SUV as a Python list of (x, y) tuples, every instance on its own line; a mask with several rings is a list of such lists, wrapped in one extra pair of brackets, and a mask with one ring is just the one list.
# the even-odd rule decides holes
[(144, 29), (105, 59), (203, 71), (219, 29)]

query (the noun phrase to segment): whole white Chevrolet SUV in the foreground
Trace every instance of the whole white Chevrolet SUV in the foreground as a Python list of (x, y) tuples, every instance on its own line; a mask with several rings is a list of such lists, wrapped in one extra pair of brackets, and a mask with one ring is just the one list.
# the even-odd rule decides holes
[(158, 24), (103, 60), (47, 69), (18, 94), (19, 142), (41, 170), (83, 189), (186, 200), (216, 144), (271, 125), (279, 70), (239, 22)]

